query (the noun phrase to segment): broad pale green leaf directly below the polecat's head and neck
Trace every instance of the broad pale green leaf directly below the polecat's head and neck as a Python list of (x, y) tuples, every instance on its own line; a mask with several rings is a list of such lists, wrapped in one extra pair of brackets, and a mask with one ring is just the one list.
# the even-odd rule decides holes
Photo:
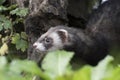
[(72, 52), (56, 51), (48, 53), (42, 61), (42, 68), (51, 78), (65, 73), (73, 56)]

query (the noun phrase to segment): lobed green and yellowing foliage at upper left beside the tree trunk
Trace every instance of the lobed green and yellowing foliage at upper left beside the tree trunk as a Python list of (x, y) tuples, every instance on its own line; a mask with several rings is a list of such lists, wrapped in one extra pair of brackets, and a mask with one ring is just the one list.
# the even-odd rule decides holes
[(4, 2), (5, 0), (0, 1), (0, 55), (9, 53), (9, 49), (11, 49), (9, 47), (13, 44), (16, 50), (25, 52), (28, 47), (27, 35), (24, 30), (21, 30), (24, 29), (24, 26), (19, 26), (19, 23), (23, 23), (28, 9), (18, 8), (17, 5), (6, 7), (2, 5)]

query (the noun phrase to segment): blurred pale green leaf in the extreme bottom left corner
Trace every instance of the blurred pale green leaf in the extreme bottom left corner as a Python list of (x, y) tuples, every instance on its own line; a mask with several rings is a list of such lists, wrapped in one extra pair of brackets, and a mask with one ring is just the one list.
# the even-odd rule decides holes
[(9, 70), (9, 63), (4, 56), (0, 56), (0, 80), (26, 80), (20, 74), (16, 74), (14, 71)]

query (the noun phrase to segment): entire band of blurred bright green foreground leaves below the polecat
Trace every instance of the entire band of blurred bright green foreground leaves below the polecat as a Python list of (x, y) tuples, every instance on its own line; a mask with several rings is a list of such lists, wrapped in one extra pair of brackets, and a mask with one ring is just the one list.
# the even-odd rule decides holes
[(120, 80), (120, 67), (112, 65), (111, 56), (95, 67), (85, 65), (78, 70), (73, 70), (70, 65), (72, 57), (72, 52), (51, 52), (42, 61), (43, 71), (32, 61), (13, 60), (8, 63), (5, 57), (0, 57), (0, 79), (31, 80), (36, 75), (42, 80)]

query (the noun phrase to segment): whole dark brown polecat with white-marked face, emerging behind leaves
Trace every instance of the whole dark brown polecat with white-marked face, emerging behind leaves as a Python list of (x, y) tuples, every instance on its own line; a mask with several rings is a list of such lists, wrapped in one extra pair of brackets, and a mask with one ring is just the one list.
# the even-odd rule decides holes
[(56, 26), (50, 28), (35, 43), (40, 52), (64, 49), (74, 51), (91, 65), (96, 65), (110, 51), (120, 45), (120, 1), (109, 0), (102, 4), (87, 24), (87, 28)]

